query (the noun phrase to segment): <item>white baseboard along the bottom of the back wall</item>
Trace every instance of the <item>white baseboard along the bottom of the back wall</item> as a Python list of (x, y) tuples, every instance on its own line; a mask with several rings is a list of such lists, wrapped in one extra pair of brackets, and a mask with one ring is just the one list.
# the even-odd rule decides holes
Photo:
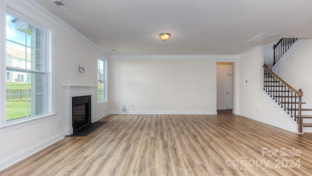
[(111, 114), (205, 114), (215, 115), (216, 111), (110, 111)]

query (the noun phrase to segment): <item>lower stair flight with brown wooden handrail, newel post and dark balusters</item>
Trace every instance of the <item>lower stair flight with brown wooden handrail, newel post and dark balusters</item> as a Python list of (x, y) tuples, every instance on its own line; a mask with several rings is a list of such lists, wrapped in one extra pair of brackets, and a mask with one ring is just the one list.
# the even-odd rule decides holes
[[(303, 121), (308, 121), (308, 119), (311, 119), (310, 122), (312, 122), (312, 115), (306, 113), (312, 112), (312, 108), (302, 107), (306, 104), (306, 102), (301, 101), (303, 91), (301, 89), (296, 90), (292, 88), (292, 86), (273, 73), (273, 71), (268, 68), (268, 65), (264, 64), (263, 68), (263, 90), (272, 97), (276, 104), (284, 109), (285, 113), (289, 114), (290, 118), (293, 118), (293, 120), (297, 122), (298, 133), (302, 133), (303, 128), (312, 127), (312, 123), (303, 123)], [(302, 113), (307, 115), (302, 115)]]

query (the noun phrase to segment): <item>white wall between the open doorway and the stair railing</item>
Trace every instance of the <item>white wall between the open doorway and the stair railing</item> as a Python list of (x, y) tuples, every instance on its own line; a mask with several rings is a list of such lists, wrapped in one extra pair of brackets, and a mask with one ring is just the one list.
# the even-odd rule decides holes
[[(262, 94), (263, 48), (239, 58), (239, 114), (245, 117), (295, 131), (291, 117), (283, 117)], [(246, 80), (249, 83), (246, 83)], [(293, 121), (293, 122), (292, 122)]]

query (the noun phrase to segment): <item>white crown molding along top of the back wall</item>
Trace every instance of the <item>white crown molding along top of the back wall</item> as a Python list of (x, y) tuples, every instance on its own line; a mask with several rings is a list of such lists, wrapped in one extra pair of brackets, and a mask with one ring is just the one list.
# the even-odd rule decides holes
[(210, 54), (112, 54), (110, 59), (237, 59), (237, 55)]

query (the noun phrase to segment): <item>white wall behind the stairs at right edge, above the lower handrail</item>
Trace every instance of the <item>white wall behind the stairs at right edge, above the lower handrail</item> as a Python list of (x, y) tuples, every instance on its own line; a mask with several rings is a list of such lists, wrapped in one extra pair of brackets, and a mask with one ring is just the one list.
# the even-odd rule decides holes
[[(293, 48), (294, 47), (294, 48)], [(293, 88), (301, 88), (303, 98), (312, 103), (312, 39), (300, 39), (295, 42), (276, 64), (276, 74)], [(290, 52), (290, 53), (289, 53)]]

